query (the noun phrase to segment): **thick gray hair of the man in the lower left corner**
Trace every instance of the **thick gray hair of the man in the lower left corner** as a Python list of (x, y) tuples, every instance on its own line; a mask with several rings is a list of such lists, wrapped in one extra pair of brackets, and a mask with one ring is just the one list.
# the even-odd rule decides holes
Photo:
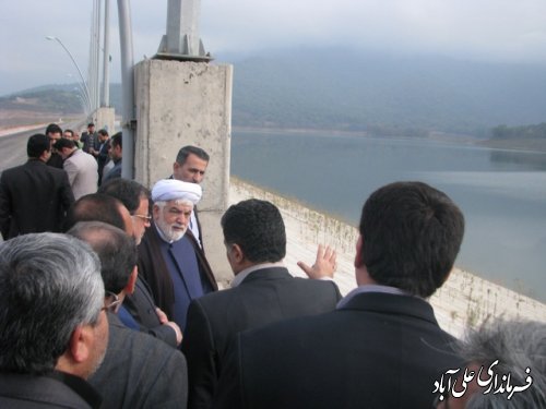
[(52, 371), (74, 328), (97, 323), (104, 296), (98, 257), (81, 240), (31, 233), (2, 243), (0, 371)]

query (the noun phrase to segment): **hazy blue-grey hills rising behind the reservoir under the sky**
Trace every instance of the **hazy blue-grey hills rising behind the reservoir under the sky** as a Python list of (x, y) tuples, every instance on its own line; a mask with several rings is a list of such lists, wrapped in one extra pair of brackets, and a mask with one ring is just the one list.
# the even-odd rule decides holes
[[(328, 48), (216, 56), (214, 63), (224, 61), (234, 64), (235, 127), (486, 137), (500, 124), (546, 122), (546, 68), (539, 65)], [(0, 108), (35, 100), (36, 109), (81, 112), (74, 86), (12, 94), (0, 98)], [(51, 88), (61, 94), (54, 97)], [(119, 112), (119, 84), (111, 85), (110, 101)]]

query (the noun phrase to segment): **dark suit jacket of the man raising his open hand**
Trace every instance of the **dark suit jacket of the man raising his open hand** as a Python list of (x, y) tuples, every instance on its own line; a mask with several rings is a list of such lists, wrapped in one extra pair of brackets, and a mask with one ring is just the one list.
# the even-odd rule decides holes
[(190, 408), (209, 408), (235, 335), (276, 321), (335, 309), (333, 281), (295, 278), (284, 267), (251, 273), (239, 286), (193, 300), (182, 351), (188, 361)]

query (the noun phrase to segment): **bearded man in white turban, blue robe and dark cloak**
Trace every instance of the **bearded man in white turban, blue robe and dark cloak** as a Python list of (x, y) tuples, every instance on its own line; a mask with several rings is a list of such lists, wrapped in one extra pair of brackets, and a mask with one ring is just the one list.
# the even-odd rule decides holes
[(156, 305), (182, 329), (191, 300), (217, 290), (203, 250), (189, 229), (201, 187), (162, 179), (152, 188), (152, 226), (139, 245), (139, 275)]

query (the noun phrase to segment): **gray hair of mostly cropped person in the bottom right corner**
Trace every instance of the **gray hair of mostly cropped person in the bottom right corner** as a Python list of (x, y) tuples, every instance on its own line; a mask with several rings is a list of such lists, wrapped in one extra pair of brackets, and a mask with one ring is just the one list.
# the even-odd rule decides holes
[[(511, 399), (506, 394), (476, 392), (466, 404), (466, 409), (546, 408), (546, 323), (536, 321), (486, 321), (472, 329), (460, 353), (466, 362), (492, 366), (496, 374), (510, 373), (512, 386), (523, 386), (526, 377), (533, 383), (523, 392), (514, 393)], [(531, 373), (525, 370), (530, 368)]]

